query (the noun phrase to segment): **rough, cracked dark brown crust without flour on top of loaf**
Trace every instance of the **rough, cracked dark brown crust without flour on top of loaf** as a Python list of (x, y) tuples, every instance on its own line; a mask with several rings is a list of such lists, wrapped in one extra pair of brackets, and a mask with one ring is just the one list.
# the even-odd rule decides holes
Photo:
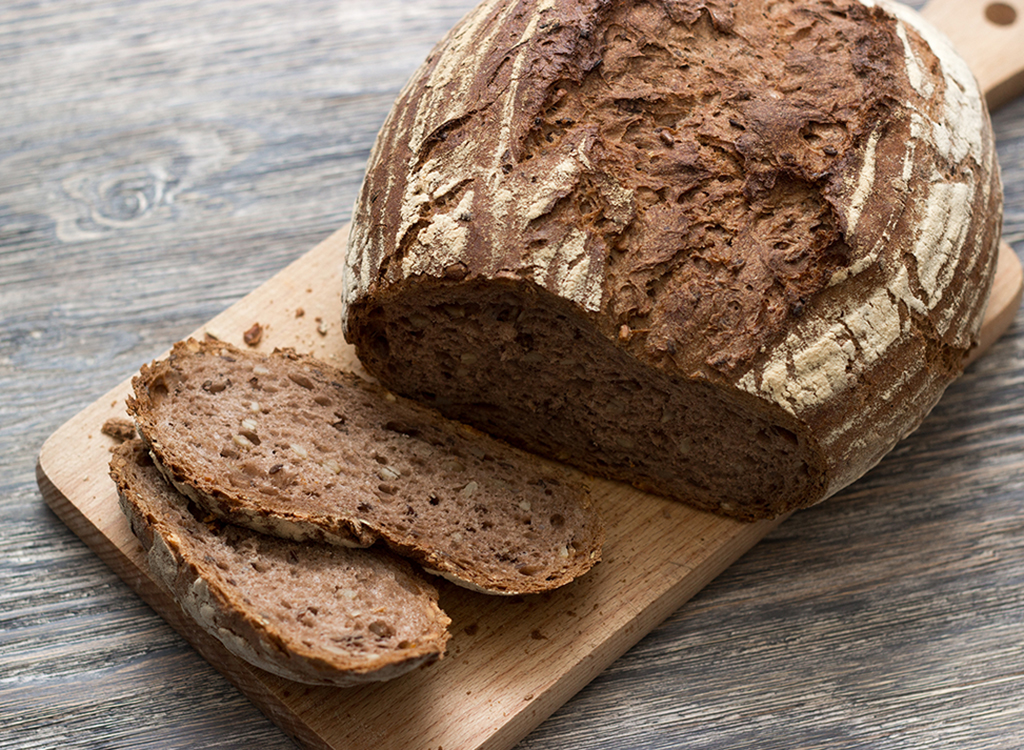
[[(684, 372), (741, 368), (856, 259), (828, 187), (898, 95), (901, 52), (880, 12), (811, 1), (755, 24), (744, 10), (609, 5), (581, 42), (600, 66), (549, 87), (515, 155), (534, 178), (560, 141), (593, 138), (587, 184), (524, 240), (564, 225), (600, 238), (605, 335), (627, 326), (637, 357)], [(777, 36), (785, 24), (796, 41)], [(828, 66), (814, 51), (825, 45)], [(799, 93), (773, 98), (778, 80)], [(630, 220), (606, 181), (633, 193)]]

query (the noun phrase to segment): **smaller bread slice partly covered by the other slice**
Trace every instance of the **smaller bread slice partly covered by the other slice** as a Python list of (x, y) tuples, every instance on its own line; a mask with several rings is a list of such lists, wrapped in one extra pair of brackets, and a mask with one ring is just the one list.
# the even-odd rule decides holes
[(299, 682), (348, 686), (443, 655), (451, 621), (407, 560), (204, 517), (137, 439), (115, 450), (111, 475), (150, 570), (239, 658)]

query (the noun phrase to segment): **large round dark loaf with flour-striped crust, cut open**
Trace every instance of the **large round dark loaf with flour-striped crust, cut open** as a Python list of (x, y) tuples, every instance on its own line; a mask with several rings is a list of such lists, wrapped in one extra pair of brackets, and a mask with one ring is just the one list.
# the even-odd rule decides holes
[(886, 0), (484, 0), (371, 156), (344, 329), (392, 390), (752, 519), (959, 374), (1001, 189), (965, 62)]

